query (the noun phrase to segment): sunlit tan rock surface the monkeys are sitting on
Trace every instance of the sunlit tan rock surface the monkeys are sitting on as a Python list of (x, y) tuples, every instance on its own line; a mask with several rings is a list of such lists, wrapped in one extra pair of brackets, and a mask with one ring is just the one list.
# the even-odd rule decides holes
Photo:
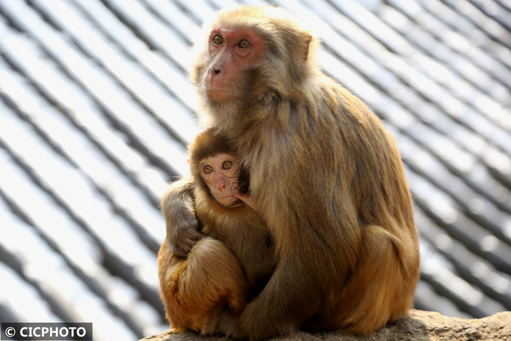
[[(199, 336), (191, 332), (173, 334), (165, 332), (152, 335), (140, 341), (185, 341), (185, 340), (226, 340), (225, 337)], [(285, 337), (274, 337), (276, 340), (342, 340), (342, 341), (373, 341), (373, 340), (511, 340), (511, 312), (504, 311), (482, 319), (464, 320), (458, 317), (444, 316), (438, 312), (410, 310), (403, 319), (389, 323), (368, 336), (356, 336), (342, 332), (321, 332), (309, 334), (297, 332)]]

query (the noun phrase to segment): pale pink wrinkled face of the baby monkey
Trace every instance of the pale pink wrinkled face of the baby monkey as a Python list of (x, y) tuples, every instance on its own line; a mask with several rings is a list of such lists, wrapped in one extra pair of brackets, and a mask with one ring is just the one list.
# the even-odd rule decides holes
[(217, 154), (204, 158), (199, 164), (199, 174), (210, 188), (211, 195), (223, 206), (233, 206), (238, 201), (240, 165), (230, 154)]

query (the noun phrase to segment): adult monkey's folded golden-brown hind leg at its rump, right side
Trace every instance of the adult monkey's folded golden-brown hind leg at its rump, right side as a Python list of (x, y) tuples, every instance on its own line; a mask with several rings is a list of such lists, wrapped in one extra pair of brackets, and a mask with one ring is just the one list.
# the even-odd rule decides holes
[(407, 313), (419, 277), (419, 251), (411, 237), (401, 237), (381, 226), (364, 226), (357, 268), (320, 329), (368, 334)]

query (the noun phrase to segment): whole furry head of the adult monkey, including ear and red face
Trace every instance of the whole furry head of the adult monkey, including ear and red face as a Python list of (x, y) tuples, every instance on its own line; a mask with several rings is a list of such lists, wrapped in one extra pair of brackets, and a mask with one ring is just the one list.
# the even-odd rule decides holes
[[(272, 22), (260, 20), (269, 16), (278, 21), (279, 30), (290, 34), (277, 36)], [(316, 72), (318, 40), (297, 27), (296, 19), (281, 8), (221, 11), (204, 28), (207, 40), (194, 47), (191, 79), (206, 109), (204, 115), (213, 113), (208, 118), (218, 125), (211, 125), (221, 129), (236, 127), (239, 108), (258, 112), (254, 100), (264, 100), (268, 91), (299, 100), (301, 89), (296, 86)]]

